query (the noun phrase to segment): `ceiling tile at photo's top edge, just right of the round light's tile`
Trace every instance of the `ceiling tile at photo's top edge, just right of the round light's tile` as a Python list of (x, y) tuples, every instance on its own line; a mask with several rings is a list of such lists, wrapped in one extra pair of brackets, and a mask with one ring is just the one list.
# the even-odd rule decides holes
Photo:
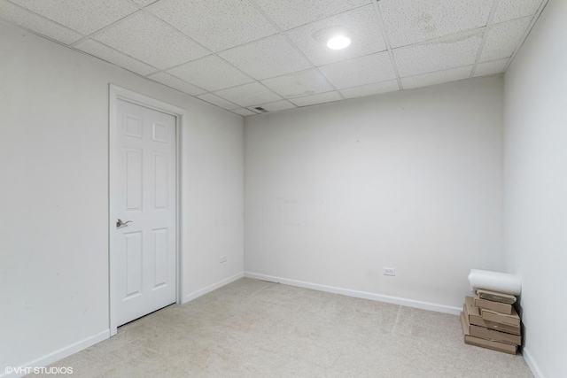
[(381, 0), (393, 48), (485, 27), (493, 0)]

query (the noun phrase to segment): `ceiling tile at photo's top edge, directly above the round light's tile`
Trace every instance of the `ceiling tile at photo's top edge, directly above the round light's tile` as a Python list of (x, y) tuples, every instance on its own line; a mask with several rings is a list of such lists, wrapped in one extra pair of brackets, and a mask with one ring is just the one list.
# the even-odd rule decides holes
[(350, 11), (371, 0), (255, 0), (256, 4), (278, 27), (289, 30), (293, 27), (326, 19), (335, 14)]

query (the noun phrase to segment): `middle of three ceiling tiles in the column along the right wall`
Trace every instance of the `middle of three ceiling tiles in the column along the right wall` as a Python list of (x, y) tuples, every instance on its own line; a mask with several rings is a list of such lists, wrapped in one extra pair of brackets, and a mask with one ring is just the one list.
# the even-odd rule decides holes
[(524, 19), (497, 24), (490, 27), (486, 33), (485, 47), (480, 56), (480, 62), (509, 58), (522, 42), (524, 33), (532, 22), (532, 16)]

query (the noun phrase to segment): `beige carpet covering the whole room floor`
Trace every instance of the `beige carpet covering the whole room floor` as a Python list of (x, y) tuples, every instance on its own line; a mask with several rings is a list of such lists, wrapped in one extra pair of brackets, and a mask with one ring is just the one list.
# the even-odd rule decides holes
[(532, 377), (520, 355), (465, 345), (457, 316), (251, 279), (52, 366), (74, 378)]

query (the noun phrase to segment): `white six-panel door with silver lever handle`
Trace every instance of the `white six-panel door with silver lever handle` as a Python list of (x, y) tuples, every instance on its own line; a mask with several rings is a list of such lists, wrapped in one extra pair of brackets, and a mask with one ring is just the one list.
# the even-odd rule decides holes
[(117, 102), (117, 326), (175, 303), (175, 121), (163, 112)]

